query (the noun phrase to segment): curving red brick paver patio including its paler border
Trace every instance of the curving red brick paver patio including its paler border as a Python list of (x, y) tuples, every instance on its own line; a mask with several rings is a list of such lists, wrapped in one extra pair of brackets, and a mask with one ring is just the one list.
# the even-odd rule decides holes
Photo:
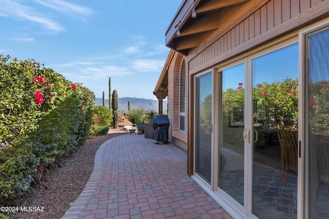
[(103, 143), (67, 218), (231, 218), (186, 174), (187, 154), (174, 143), (127, 134)]

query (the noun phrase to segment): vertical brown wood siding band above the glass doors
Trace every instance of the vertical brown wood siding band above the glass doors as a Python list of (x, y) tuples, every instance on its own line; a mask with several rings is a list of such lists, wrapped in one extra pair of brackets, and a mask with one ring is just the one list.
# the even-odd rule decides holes
[(251, 1), (188, 56), (189, 74), (209, 69), (328, 16), (329, 1)]

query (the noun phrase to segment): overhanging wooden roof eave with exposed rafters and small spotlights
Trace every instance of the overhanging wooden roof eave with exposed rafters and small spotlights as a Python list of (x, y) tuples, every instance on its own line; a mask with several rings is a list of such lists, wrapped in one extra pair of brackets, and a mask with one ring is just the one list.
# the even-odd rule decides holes
[[(188, 56), (250, 0), (185, 0), (166, 31), (166, 46)], [(195, 7), (196, 17), (192, 10)], [(178, 27), (180, 35), (176, 35)]]

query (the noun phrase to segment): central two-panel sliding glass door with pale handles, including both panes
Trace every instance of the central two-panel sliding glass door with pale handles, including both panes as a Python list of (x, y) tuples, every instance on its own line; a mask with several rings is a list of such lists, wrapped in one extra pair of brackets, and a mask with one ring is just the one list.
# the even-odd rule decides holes
[(293, 42), (217, 69), (214, 180), (219, 194), (249, 217), (297, 217), (299, 87)]

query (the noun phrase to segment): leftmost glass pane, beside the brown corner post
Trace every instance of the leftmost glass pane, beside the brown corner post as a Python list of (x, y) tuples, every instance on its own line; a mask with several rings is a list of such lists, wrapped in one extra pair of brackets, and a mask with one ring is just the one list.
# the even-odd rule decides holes
[(195, 173), (211, 184), (212, 73), (195, 79)]

